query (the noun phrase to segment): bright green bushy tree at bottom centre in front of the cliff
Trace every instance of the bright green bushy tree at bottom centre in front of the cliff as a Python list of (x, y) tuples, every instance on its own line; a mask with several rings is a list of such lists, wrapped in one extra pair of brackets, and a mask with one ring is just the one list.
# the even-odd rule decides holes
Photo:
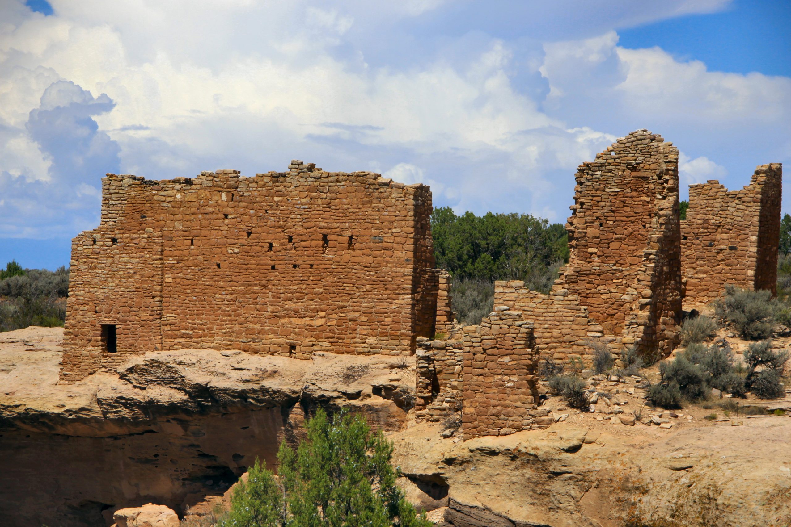
[(278, 452), (279, 477), (256, 463), (256, 479), (234, 493), (221, 527), (430, 527), (395, 486), (392, 443), (361, 416), (323, 410), (296, 451)]

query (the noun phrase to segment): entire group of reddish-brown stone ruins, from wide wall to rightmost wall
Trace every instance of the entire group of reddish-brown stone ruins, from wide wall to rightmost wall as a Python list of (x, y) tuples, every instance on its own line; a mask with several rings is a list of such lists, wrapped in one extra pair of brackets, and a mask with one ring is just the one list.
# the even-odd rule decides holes
[(694, 305), (725, 284), (774, 291), (782, 166), (735, 192), (691, 186), (682, 222), (678, 156), (637, 130), (581, 164), (551, 292), (498, 281), (494, 312), (465, 327), (427, 186), (298, 160), (252, 178), (108, 175), (100, 226), (72, 243), (61, 382), (154, 350), (416, 354), (418, 421), (459, 415), (465, 438), (547, 426), (540, 360), (589, 363), (592, 340), (667, 356), (685, 283)]

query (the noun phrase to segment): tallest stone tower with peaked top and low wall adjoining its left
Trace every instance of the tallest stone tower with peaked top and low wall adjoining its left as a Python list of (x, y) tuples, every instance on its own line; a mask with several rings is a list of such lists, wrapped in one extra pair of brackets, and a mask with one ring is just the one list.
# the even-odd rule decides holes
[(523, 311), (539, 351), (556, 359), (589, 359), (583, 334), (667, 355), (682, 299), (678, 149), (637, 130), (581, 164), (576, 179), (570, 260), (551, 294), (520, 292), (514, 303), (495, 292), (495, 307)]

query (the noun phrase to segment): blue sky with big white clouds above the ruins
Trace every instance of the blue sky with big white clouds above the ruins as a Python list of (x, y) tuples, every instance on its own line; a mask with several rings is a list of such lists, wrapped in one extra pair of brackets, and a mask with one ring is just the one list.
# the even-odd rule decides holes
[(791, 2), (11, 0), (0, 19), (0, 263), (68, 265), (106, 172), (299, 158), (563, 222), (577, 165), (638, 128), (679, 147), (683, 196), (791, 156)]

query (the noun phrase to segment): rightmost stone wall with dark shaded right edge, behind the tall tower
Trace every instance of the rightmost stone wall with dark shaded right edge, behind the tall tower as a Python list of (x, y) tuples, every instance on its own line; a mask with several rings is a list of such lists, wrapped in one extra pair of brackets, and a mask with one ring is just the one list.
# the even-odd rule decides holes
[(681, 254), (688, 307), (717, 299), (726, 284), (768, 289), (777, 284), (782, 164), (755, 169), (741, 190), (716, 179), (690, 186)]

